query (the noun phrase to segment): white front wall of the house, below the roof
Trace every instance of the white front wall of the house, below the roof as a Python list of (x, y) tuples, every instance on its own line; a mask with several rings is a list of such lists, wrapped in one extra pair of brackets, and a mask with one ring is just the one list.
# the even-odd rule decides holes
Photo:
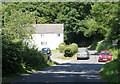
[(49, 47), (51, 50), (58, 48), (58, 45), (64, 42), (64, 35), (58, 34), (33, 34), (32, 44), (41, 50), (43, 47)]

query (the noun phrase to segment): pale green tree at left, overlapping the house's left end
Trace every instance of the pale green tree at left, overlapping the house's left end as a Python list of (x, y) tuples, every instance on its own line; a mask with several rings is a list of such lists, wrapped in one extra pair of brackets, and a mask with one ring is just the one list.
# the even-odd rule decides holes
[[(6, 21), (5, 18), (8, 20)], [(31, 25), (31, 19), (31, 15), (28, 12), (23, 13), (21, 11), (11, 10), (9, 17), (4, 13), (3, 39), (25, 40), (31, 38), (32, 33), (35, 31)]]

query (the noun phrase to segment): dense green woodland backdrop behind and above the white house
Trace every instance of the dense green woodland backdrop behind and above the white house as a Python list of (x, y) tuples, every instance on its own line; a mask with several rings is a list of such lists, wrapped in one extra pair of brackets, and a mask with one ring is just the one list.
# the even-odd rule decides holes
[(38, 24), (64, 23), (67, 44), (89, 46), (98, 39), (110, 43), (114, 39), (120, 44), (119, 2), (8, 2), (2, 5), (4, 24), (14, 9), (31, 14), (31, 24), (34, 16)]

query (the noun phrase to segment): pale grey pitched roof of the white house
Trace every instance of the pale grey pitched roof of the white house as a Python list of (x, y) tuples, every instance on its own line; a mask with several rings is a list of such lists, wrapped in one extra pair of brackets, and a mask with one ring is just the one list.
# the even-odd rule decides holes
[(63, 24), (34, 24), (33, 25), (37, 31), (36, 33), (63, 33)]

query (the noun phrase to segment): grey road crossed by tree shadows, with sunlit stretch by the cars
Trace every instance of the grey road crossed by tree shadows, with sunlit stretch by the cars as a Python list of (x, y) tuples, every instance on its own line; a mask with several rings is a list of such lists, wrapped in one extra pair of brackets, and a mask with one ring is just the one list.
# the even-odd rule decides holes
[[(80, 48), (84, 49), (84, 48)], [(71, 60), (46, 68), (40, 71), (35, 71), (31, 74), (22, 76), (11, 81), (12, 84), (23, 83), (102, 83), (106, 84), (99, 77), (99, 70), (105, 64), (98, 62), (98, 52), (88, 50), (90, 59), (88, 60)], [(54, 55), (52, 55), (54, 56)], [(10, 84), (10, 83), (9, 83)]]

